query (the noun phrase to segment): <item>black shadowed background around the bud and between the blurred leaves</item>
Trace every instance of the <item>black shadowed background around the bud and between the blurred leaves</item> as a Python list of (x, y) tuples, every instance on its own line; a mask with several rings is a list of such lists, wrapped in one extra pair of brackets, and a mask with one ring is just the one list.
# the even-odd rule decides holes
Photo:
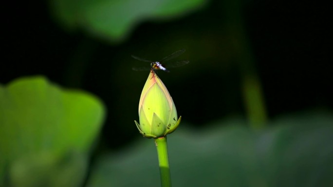
[[(159, 75), (187, 124), (204, 127), (228, 116), (245, 116), (241, 80), (246, 66), (238, 62), (235, 42), (243, 39), (240, 32), (270, 119), (332, 110), (329, 6), (308, 1), (239, 3), (210, 1), (184, 17), (148, 20), (124, 42), (112, 43), (83, 30), (67, 31), (51, 16), (46, 1), (13, 1), (3, 7), (0, 83), (42, 74), (100, 97), (108, 110), (100, 145), (113, 149), (126, 144), (125, 139), (140, 137), (133, 120), (138, 120), (148, 72), (131, 70), (143, 63), (132, 54), (158, 60), (186, 49), (179, 59), (189, 60), (188, 65)], [(234, 12), (240, 17), (232, 17)], [(124, 141), (116, 141), (119, 137)]]

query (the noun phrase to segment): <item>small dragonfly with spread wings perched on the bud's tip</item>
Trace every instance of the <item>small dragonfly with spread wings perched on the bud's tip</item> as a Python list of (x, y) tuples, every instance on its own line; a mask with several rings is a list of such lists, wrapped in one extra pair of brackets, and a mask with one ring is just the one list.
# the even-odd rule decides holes
[(167, 68), (176, 68), (176, 67), (184, 66), (185, 64), (189, 63), (188, 60), (182, 60), (182, 61), (177, 61), (177, 62), (167, 62), (169, 60), (172, 60), (172, 59), (178, 57), (179, 55), (183, 54), (184, 52), (185, 52), (184, 49), (175, 51), (172, 54), (164, 57), (162, 60), (156, 61), (156, 62), (132, 55), (132, 57), (136, 60), (150, 63), (150, 67), (148, 67), (148, 66), (147, 67), (133, 67), (132, 69), (136, 70), (136, 71), (150, 70), (154, 73), (156, 73), (156, 70), (163, 70), (166, 72), (170, 72)]

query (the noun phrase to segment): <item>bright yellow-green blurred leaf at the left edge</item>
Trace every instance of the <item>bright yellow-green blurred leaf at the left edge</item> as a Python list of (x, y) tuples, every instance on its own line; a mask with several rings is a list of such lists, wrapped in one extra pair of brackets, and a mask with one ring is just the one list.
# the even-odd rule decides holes
[(95, 96), (41, 76), (0, 85), (0, 186), (82, 185), (104, 116)]

